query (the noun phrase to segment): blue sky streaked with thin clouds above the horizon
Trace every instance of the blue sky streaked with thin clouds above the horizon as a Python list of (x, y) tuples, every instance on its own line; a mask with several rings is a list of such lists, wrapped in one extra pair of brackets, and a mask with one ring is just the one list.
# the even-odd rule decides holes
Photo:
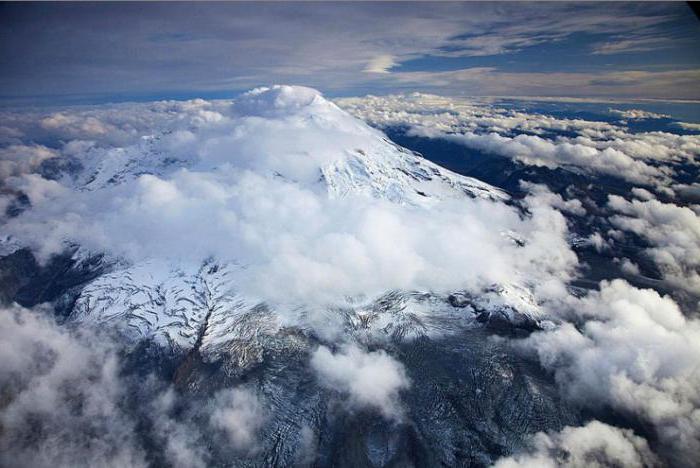
[(0, 103), (329, 96), (700, 99), (685, 3), (0, 5)]

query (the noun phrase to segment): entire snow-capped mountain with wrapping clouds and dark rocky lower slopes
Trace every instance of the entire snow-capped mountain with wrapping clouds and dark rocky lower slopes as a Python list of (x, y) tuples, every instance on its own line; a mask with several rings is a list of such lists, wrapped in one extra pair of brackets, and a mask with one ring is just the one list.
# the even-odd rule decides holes
[[(101, 137), (12, 180), (0, 293), (116, 332), (155, 465), (201, 439), (200, 465), (487, 466), (578, 421), (492, 339), (548, 326), (540, 288), (575, 265), (547, 200), (446, 170), (306, 88), (91, 112)], [(121, 127), (103, 132), (105, 113)]]

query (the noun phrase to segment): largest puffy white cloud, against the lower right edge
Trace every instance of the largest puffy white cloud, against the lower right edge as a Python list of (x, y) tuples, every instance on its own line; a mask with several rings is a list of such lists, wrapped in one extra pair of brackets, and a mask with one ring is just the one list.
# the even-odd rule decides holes
[(567, 321), (525, 343), (564, 395), (650, 423), (666, 457), (692, 464), (700, 450), (700, 322), (623, 280), (569, 297), (558, 310)]

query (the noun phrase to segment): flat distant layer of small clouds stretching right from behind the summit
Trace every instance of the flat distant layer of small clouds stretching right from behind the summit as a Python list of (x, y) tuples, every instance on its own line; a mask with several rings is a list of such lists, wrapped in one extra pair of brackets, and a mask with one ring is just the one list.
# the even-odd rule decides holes
[(667, 184), (674, 165), (696, 164), (700, 153), (697, 135), (631, 133), (612, 123), (554, 118), (470, 99), (414, 93), (338, 103), (380, 128), (407, 128), (409, 136), (444, 139), (526, 165), (573, 167), (648, 185)]

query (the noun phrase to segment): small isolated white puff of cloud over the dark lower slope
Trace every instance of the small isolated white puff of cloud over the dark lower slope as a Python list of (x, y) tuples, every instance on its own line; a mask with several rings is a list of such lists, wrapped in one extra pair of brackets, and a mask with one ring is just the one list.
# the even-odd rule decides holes
[(410, 381), (403, 365), (385, 351), (346, 345), (333, 353), (320, 346), (311, 356), (311, 368), (322, 385), (347, 395), (351, 407), (375, 409), (388, 419), (401, 418), (399, 393)]

